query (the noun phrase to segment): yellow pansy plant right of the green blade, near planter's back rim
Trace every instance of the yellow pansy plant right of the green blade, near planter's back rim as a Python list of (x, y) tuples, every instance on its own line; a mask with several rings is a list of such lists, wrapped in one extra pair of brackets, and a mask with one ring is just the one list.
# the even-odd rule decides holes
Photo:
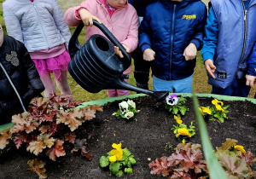
[(212, 104), (212, 107), (199, 107), (201, 115), (206, 119), (218, 119), (221, 123), (224, 123), (224, 119), (227, 118), (226, 113), (229, 113), (227, 110), (229, 106), (223, 107), (224, 103), (217, 99), (212, 100)]

